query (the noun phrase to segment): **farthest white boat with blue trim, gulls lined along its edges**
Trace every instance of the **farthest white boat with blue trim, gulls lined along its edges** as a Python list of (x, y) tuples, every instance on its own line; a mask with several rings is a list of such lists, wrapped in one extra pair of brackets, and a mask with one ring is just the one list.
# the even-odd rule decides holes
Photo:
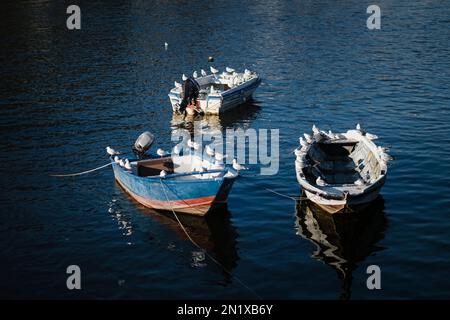
[[(219, 70), (211, 67), (211, 74), (202, 70), (200, 75), (196, 71), (193, 73), (199, 85), (196, 107), (205, 114), (223, 113), (245, 103), (261, 83), (259, 75), (247, 69), (239, 73), (227, 67), (219, 73)], [(186, 81), (187, 77), (183, 75), (182, 80)], [(183, 87), (183, 84), (175, 82), (175, 87), (170, 90), (169, 98), (174, 112), (179, 111), (183, 100)]]

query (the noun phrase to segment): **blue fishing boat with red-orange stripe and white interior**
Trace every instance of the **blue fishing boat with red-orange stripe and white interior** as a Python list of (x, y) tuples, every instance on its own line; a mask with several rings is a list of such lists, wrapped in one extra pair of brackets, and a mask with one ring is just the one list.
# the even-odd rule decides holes
[(232, 167), (193, 149), (150, 159), (112, 155), (111, 161), (116, 181), (144, 206), (198, 216), (225, 204), (238, 177)]

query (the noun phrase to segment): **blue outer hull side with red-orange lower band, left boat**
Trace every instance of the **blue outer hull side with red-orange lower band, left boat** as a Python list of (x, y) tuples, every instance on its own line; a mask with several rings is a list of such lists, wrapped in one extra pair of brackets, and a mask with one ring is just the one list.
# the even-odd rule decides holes
[(113, 164), (118, 184), (142, 205), (165, 211), (205, 216), (225, 204), (235, 178), (176, 180), (137, 177)]

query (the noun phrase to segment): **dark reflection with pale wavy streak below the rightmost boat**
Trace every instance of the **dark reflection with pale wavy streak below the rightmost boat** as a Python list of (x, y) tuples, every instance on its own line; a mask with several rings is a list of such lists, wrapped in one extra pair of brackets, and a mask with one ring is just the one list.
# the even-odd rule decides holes
[(331, 215), (308, 201), (297, 202), (297, 234), (315, 246), (312, 257), (336, 270), (341, 281), (341, 299), (350, 299), (353, 271), (373, 252), (383, 250), (387, 218), (380, 196), (359, 212)]

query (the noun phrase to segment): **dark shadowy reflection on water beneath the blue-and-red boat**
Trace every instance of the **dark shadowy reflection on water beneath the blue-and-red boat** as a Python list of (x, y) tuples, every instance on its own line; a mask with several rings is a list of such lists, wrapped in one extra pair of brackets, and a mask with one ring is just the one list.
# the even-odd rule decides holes
[[(142, 214), (150, 217), (153, 221), (166, 226), (168, 230), (171, 230), (180, 239), (190, 241), (180, 227), (173, 212), (147, 208), (136, 202), (136, 200), (128, 195), (119, 184), (116, 183), (116, 186), (126, 198), (135, 204), (135, 207)], [(228, 210), (228, 207), (223, 205), (216, 208), (205, 217), (197, 217), (183, 213), (178, 213), (177, 216), (192, 240), (220, 263), (220, 266), (218, 267), (223, 273), (223, 284), (227, 285), (231, 283), (233, 280), (231, 274), (233, 269), (237, 266), (239, 256), (236, 241), (238, 234), (231, 222), (231, 213)], [(129, 221), (125, 221), (125, 223), (130, 224)], [(192, 247), (195, 248), (193, 244)], [(197, 259), (198, 261), (196, 261)], [(193, 257), (193, 260), (193, 264), (198, 263), (200, 265), (205, 262), (211, 265), (214, 264), (214, 262), (206, 256)]]

